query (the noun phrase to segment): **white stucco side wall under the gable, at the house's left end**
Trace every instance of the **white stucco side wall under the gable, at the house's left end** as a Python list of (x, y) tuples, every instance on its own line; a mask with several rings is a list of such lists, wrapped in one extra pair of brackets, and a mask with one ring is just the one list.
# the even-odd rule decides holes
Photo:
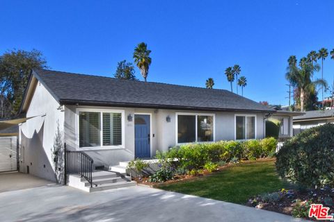
[(31, 174), (56, 181), (51, 148), (54, 146), (57, 121), (61, 131), (64, 126), (64, 112), (57, 110), (58, 107), (54, 97), (38, 83), (26, 112), (26, 117), (34, 118), (19, 126), (20, 171), (26, 173), (29, 166)]

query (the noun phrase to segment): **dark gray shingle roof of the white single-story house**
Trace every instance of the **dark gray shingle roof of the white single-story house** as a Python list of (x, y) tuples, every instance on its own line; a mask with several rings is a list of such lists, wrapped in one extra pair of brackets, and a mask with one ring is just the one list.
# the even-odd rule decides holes
[(224, 89), (145, 83), (45, 69), (34, 70), (33, 74), (63, 104), (275, 112)]

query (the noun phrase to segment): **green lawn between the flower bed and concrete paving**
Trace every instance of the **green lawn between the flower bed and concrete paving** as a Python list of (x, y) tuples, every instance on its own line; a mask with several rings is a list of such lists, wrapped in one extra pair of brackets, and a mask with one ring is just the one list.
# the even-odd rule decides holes
[(278, 178), (274, 161), (236, 164), (210, 176), (159, 185), (160, 189), (244, 204), (257, 194), (285, 188)]

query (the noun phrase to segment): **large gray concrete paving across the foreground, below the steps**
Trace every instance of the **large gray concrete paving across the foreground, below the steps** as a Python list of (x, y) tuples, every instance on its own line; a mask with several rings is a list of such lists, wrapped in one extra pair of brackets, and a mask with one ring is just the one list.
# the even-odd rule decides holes
[(290, 216), (147, 187), (95, 193), (49, 185), (0, 194), (1, 221), (301, 221)]

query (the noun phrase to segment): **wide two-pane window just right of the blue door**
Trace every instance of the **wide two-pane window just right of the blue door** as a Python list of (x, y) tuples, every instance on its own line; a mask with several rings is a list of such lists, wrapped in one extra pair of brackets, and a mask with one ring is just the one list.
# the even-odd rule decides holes
[(214, 141), (214, 116), (177, 114), (177, 143)]

